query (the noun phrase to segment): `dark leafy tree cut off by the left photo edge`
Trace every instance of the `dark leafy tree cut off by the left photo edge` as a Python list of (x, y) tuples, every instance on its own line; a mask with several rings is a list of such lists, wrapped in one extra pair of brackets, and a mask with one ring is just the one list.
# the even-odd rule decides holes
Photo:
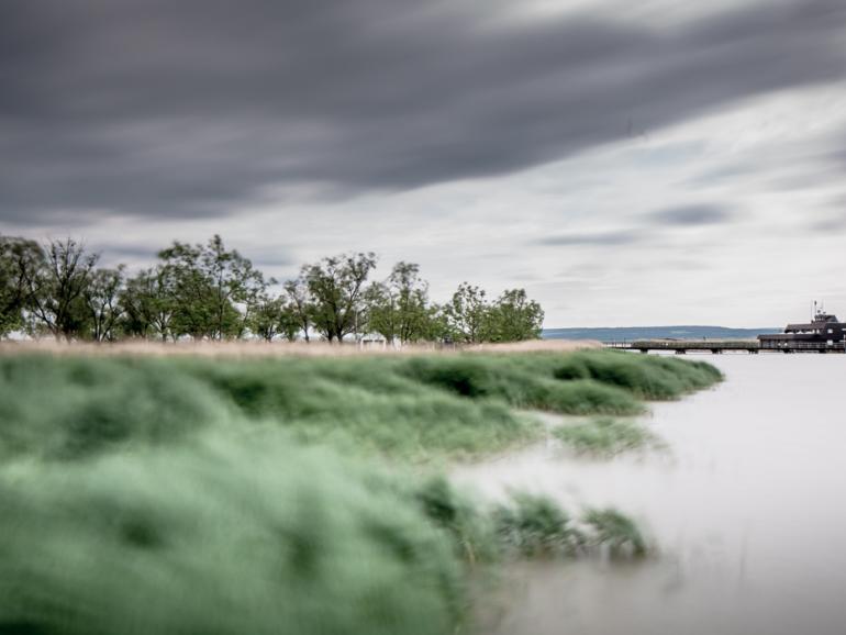
[(44, 264), (44, 252), (36, 242), (0, 236), (0, 337), (23, 328), (30, 303), (27, 281)]

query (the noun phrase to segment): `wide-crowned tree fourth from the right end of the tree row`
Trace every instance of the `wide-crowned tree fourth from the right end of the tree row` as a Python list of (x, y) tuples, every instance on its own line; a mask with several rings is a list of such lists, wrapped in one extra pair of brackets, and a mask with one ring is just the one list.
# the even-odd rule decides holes
[(341, 343), (365, 324), (363, 294), (374, 267), (376, 255), (368, 253), (323, 258), (302, 268), (313, 301), (314, 327), (330, 342)]

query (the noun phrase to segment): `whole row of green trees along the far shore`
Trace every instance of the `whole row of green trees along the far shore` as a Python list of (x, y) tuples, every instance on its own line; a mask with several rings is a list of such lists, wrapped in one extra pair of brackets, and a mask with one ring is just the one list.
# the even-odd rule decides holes
[(397, 263), (371, 280), (372, 253), (303, 265), (299, 276), (266, 277), (215, 235), (175, 241), (153, 267), (130, 275), (100, 267), (100, 255), (73, 239), (37, 242), (0, 235), (0, 337), (114, 342), (313, 337), (343, 342), (379, 334), (392, 344), (515, 342), (539, 337), (544, 312), (524, 289), (496, 299), (463, 282), (438, 304), (420, 267)]

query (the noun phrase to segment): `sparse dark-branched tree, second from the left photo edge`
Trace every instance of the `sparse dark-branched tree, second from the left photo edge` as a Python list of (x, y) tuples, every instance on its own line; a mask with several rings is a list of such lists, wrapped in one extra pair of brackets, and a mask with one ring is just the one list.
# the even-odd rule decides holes
[(73, 238), (53, 241), (45, 252), (45, 266), (26, 274), (30, 310), (54, 337), (69, 341), (85, 331), (84, 293), (100, 256), (86, 254)]

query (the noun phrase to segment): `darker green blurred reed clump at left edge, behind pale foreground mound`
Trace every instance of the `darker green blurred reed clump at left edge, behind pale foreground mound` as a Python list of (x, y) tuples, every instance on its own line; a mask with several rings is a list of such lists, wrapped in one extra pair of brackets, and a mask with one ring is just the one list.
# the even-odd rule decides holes
[(167, 445), (232, 413), (211, 387), (157, 360), (0, 357), (0, 459)]

